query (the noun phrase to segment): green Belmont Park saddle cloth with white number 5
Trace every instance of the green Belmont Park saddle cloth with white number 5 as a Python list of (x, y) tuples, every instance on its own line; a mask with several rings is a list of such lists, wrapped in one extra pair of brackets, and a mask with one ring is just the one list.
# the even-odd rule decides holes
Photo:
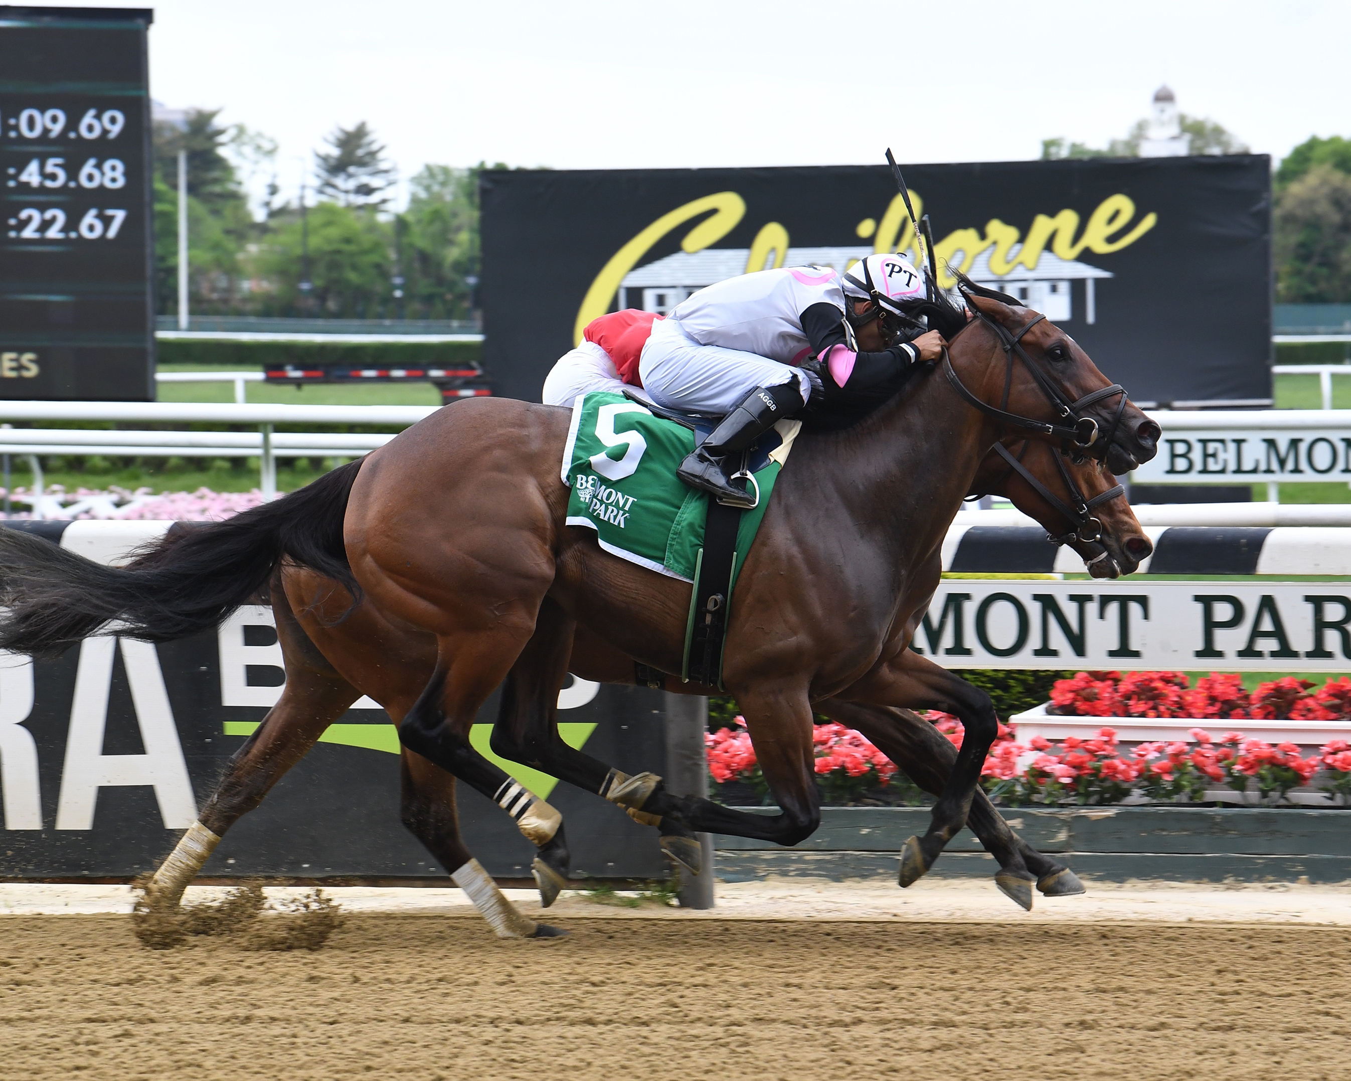
[(569, 526), (594, 530), (597, 543), (621, 559), (693, 582), (680, 674), (721, 688), (736, 576), (801, 424), (780, 420), (747, 451), (744, 470), (759, 500), (744, 511), (712, 503), (676, 477), (712, 428), (623, 395), (578, 395), (561, 476), (571, 489)]

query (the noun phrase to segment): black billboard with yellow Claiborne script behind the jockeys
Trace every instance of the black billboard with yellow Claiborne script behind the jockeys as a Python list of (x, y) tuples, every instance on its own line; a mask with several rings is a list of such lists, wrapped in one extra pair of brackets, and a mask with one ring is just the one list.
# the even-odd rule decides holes
[[(1265, 155), (904, 166), (944, 263), (1019, 296), (1140, 404), (1270, 399)], [(593, 318), (777, 265), (909, 250), (886, 166), (481, 174), (485, 368), (539, 400)]]

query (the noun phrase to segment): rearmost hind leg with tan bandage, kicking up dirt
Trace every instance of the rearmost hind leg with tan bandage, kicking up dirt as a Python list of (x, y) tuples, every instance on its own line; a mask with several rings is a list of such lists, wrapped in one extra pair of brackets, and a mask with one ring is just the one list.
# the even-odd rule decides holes
[(304, 758), (324, 730), (359, 697), (305, 636), (276, 580), (272, 595), (286, 685), (262, 724), (230, 759), (197, 820), (150, 880), (147, 895), (155, 905), (178, 904), (226, 831), (262, 803), (286, 770)]

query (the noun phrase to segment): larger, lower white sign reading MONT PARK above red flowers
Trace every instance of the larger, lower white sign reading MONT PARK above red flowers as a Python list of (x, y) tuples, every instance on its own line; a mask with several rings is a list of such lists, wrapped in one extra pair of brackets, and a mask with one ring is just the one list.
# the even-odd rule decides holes
[(1346, 672), (1351, 582), (947, 578), (911, 649), (943, 668)]

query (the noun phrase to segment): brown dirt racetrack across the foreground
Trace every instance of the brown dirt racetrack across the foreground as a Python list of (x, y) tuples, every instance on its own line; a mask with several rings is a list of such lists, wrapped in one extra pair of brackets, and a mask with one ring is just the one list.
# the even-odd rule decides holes
[(319, 953), (0, 923), (14, 1078), (1344, 1078), (1351, 928), (351, 915)]

